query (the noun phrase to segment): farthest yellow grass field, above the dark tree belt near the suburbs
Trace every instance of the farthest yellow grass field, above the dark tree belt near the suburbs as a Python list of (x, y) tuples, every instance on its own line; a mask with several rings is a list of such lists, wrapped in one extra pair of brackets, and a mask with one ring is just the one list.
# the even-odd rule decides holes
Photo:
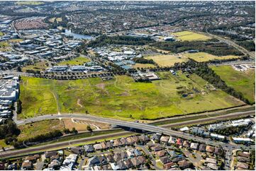
[(182, 41), (210, 40), (211, 39), (211, 37), (208, 37), (206, 35), (201, 35), (201, 34), (190, 32), (190, 31), (182, 31), (182, 32), (172, 33), (172, 35), (176, 36), (178, 40), (182, 40)]

